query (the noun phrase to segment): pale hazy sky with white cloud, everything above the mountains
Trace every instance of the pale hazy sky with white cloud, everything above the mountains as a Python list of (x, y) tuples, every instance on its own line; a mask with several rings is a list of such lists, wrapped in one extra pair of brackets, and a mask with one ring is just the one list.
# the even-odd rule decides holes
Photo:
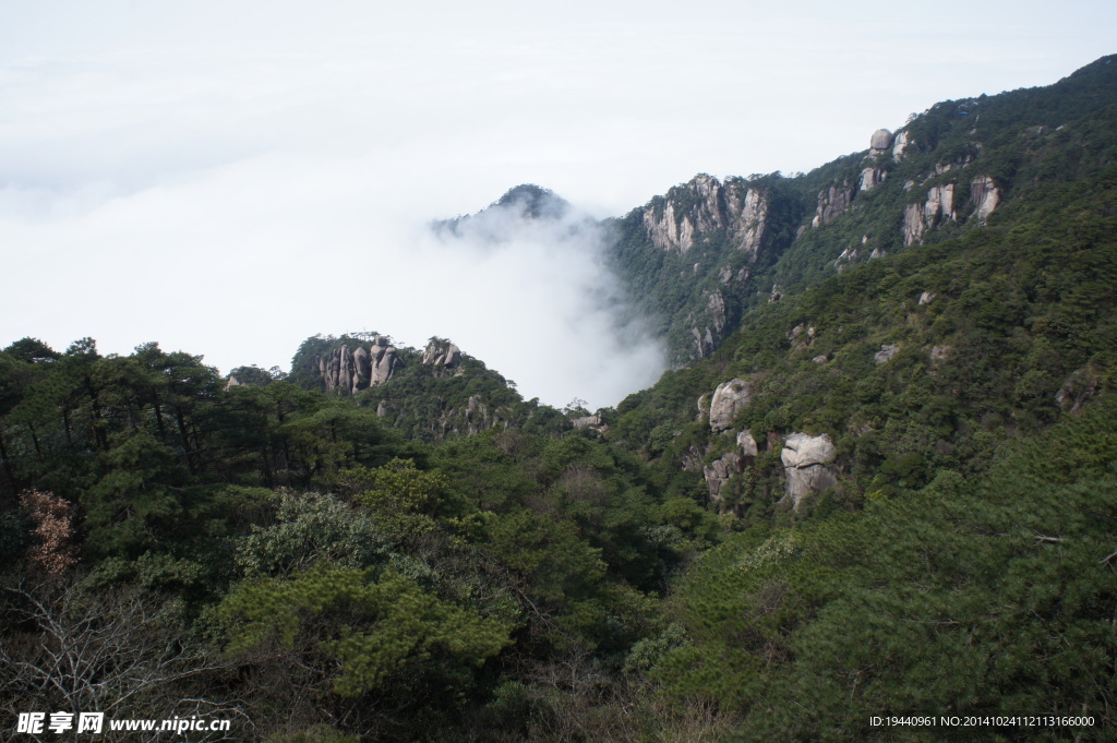
[(228, 372), (437, 335), (526, 398), (612, 406), (665, 362), (602, 308), (596, 237), (426, 225), (518, 183), (600, 218), (809, 171), (1117, 51), (1110, 0), (403, 6), (0, 0), (0, 347), (157, 341)]

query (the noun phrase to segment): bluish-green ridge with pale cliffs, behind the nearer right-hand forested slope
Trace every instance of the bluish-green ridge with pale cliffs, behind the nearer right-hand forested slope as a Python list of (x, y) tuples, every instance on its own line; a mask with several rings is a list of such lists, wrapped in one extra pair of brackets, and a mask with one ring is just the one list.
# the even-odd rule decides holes
[(805, 175), (670, 189), (613, 223), (633, 311), (657, 320), (676, 361), (706, 356), (758, 304), (1096, 175), (1114, 161), (1114, 59), (1048, 87), (937, 104)]

